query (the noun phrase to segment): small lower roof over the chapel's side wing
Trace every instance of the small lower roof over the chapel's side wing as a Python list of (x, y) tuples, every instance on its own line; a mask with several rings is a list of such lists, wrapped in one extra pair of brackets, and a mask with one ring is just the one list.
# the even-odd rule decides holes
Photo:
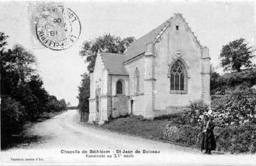
[(101, 53), (103, 64), (109, 70), (109, 74), (112, 75), (128, 75), (126, 68), (123, 66), (123, 62), (126, 59), (126, 55), (115, 53)]

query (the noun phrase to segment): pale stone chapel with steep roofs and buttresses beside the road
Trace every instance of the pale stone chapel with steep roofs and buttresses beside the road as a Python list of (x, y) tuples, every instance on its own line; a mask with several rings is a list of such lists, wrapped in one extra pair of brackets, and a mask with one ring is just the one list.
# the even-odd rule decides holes
[(99, 53), (90, 73), (89, 122), (141, 115), (154, 118), (210, 105), (209, 49), (181, 14), (137, 39), (124, 55)]

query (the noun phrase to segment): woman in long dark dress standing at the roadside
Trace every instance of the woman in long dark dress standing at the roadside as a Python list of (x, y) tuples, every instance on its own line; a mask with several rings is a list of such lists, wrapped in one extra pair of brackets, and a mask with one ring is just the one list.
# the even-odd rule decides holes
[(203, 132), (201, 151), (205, 149), (204, 154), (212, 154), (211, 151), (216, 149), (216, 141), (213, 132), (215, 124), (208, 113), (205, 113), (203, 118), (203, 125), (201, 126), (201, 131)]

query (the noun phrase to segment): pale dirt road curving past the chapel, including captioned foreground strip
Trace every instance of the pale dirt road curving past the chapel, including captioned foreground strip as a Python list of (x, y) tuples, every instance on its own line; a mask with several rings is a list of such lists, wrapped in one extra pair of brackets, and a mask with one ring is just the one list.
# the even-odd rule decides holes
[[(30, 127), (27, 133), (40, 136), (41, 139), (25, 147), (1, 151), (1, 165), (255, 165), (256, 163), (255, 155), (207, 156), (200, 154), (200, 151), (169, 143), (95, 129), (80, 123), (76, 110), (69, 110), (44, 122), (38, 122)], [(90, 153), (90, 150), (97, 153)], [(121, 153), (117, 153), (119, 150)], [(143, 151), (151, 153), (143, 153)]]

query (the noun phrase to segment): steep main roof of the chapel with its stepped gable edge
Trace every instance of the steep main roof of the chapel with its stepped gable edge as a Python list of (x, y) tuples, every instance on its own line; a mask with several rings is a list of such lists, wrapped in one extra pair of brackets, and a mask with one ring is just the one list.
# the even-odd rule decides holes
[[(179, 14), (179, 13), (175, 14), (174, 17), (177, 17), (177, 16), (182, 17), (182, 15)], [(145, 53), (146, 49), (147, 49), (146, 48), (147, 45), (148, 44), (153, 44), (154, 42), (156, 42), (156, 40), (162, 35), (162, 33), (164, 33), (164, 31), (169, 26), (171, 26), (172, 19), (173, 19), (173, 17), (171, 17), (170, 19), (167, 19), (167, 21), (164, 21), (163, 24), (161, 24), (157, 28), (151, 30), (149, 33), (147, 33), (146, 35), (140, 37), (135, 42), (133, 42), (133, 44), (126, 51), (126, 61), (128, 61), (129, 59), (133, 59), (134, 57), (137, 57), (138, 55), (142, 55), (143, 53)], [(182, 17), (182, 19), (183, 19), (183, 17)], [(185, 22), (185, 24), (187, 24), (185, 19), (183, 19), (183, 21)], [(189, 30), (190, 30), (190, 28), (189, 28)], [(192, 33), (192, 34), (194, 35), (194, 33)], [(197, 39), (196, 39), (196, 42), (198, 42)], [(199, 44), (199, 42), (198, 42), (198, 44)], [(200, 44), (199, 44), (199, 46), (200, 46)]]

